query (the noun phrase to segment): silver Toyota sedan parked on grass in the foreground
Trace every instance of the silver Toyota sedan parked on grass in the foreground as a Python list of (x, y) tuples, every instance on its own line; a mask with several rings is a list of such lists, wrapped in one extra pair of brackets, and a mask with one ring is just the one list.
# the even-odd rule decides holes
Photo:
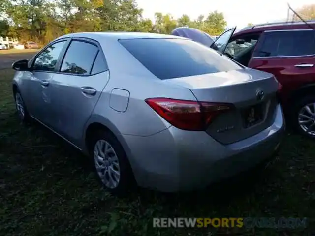
[(206, 187), (267, 163), (284, 134), (272, 74), (183, 37), (74, 33), (13, 69), (21, 120), (89, 154), (114, 193), (134, 179), (161, 191)]

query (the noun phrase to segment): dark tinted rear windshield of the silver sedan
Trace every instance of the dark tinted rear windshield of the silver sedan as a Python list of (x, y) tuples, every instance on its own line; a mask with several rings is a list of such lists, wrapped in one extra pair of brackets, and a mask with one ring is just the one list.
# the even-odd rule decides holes
[(122, 39), (119, 42), (159, 79), (242, 69), (231, 59), (186, 39)]

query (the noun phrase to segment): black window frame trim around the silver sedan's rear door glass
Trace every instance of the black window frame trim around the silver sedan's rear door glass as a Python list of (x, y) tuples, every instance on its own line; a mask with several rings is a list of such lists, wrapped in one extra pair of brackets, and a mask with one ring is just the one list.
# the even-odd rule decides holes
[[(94, 60), (93, 60), (93, 63), (92, 63), (92, 66), (91, 66), (91, 69), (90, 69), (89, 74), (80, 75), (80, 74), (64, 73), (64, 72), (61, 72), (61, 71), (60, 71), (60, 70), (61, 70), (62, 63), (63, 63), (63, 59), (64, 59), (65, 54), (66, 54), (66, 52), (68, 51), (68, 49), (69, 49), (69, 47), (70, 47), (72, 41), (81, 41), (81, 42), (84, 42), (84, 43), (90, 43), (90, 44), (93, 44), (95, 47), (97, 47), (98, 51), (97, 51), (97, 53), (95, 54), (95, 58), (94, 58)], [(108, 70), (109, 70), (108, 64), (107, 64), (106, 58), (105, 58), (104, 53), (103, 53), (103, 57), (104, 57), (104, 60), (105, 60), (105, 61), (104, 61), (104, 62), (105, 62), (105, 68), (107, 68), (107, 69), (104, 70), (104, 71), (95, 73), (95, 74), (91, 74), (91, 73), (92, 73), (92, 70), (93, 70), (93, 66), (94, 66), (95, 60), (96, 60), (96, 57), (97, 57), (97, 55), (98, 55), (99, 52), (103, 53), (100, 44), (99, 44), (96, 40), (91, 39), (91, 38), (85, 38), (85, 37), (71, 37), (71, 40), (69, 41), (69, 44), (67, 45), (67, 48), (66, 48), (66, 50), (65, 50), (65, 52), (64, 52), (64, 54), (63, 54), (63, 58), (60, 60), (60, 64), (58, 65), (58, 70), (57, 70), (57, 72), (55, 72), (55, 73), (56, 73), (56, 74), (62, 74), (62, 75), (72, 75), (72, 76), (89, 77), (89, 76), (97, 75), (97, 74), (103, 73), (103, 72), (105, 72), (105, 71), (108, 71)]]

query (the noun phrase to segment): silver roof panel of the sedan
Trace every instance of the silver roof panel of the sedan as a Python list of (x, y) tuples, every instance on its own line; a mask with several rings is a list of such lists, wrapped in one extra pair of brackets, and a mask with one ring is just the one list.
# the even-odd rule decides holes
[(159, 33), (142, 33), (142, 32), (81, 32), (81, 33), (70, 33), (59, 37), (67, 38), (67, 37), (83, 37), (83, 38), (91, 38), (95, 40), (99, 40), (101, 38), (106, 39), (144, 39), (144, 38), (166, 38), (166, 39), (187, 39), (184, 37), (169, 35), (169, 34), (159, 34)]

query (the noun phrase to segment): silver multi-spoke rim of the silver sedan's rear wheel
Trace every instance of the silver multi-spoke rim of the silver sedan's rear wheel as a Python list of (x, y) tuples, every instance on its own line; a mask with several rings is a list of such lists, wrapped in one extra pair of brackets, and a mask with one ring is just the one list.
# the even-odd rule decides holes
[(120, 166), (114, 148), (105, 140), (98, 140), (94, 146), (95, 168), (103, 184), (110, 189), (118, 186)]

